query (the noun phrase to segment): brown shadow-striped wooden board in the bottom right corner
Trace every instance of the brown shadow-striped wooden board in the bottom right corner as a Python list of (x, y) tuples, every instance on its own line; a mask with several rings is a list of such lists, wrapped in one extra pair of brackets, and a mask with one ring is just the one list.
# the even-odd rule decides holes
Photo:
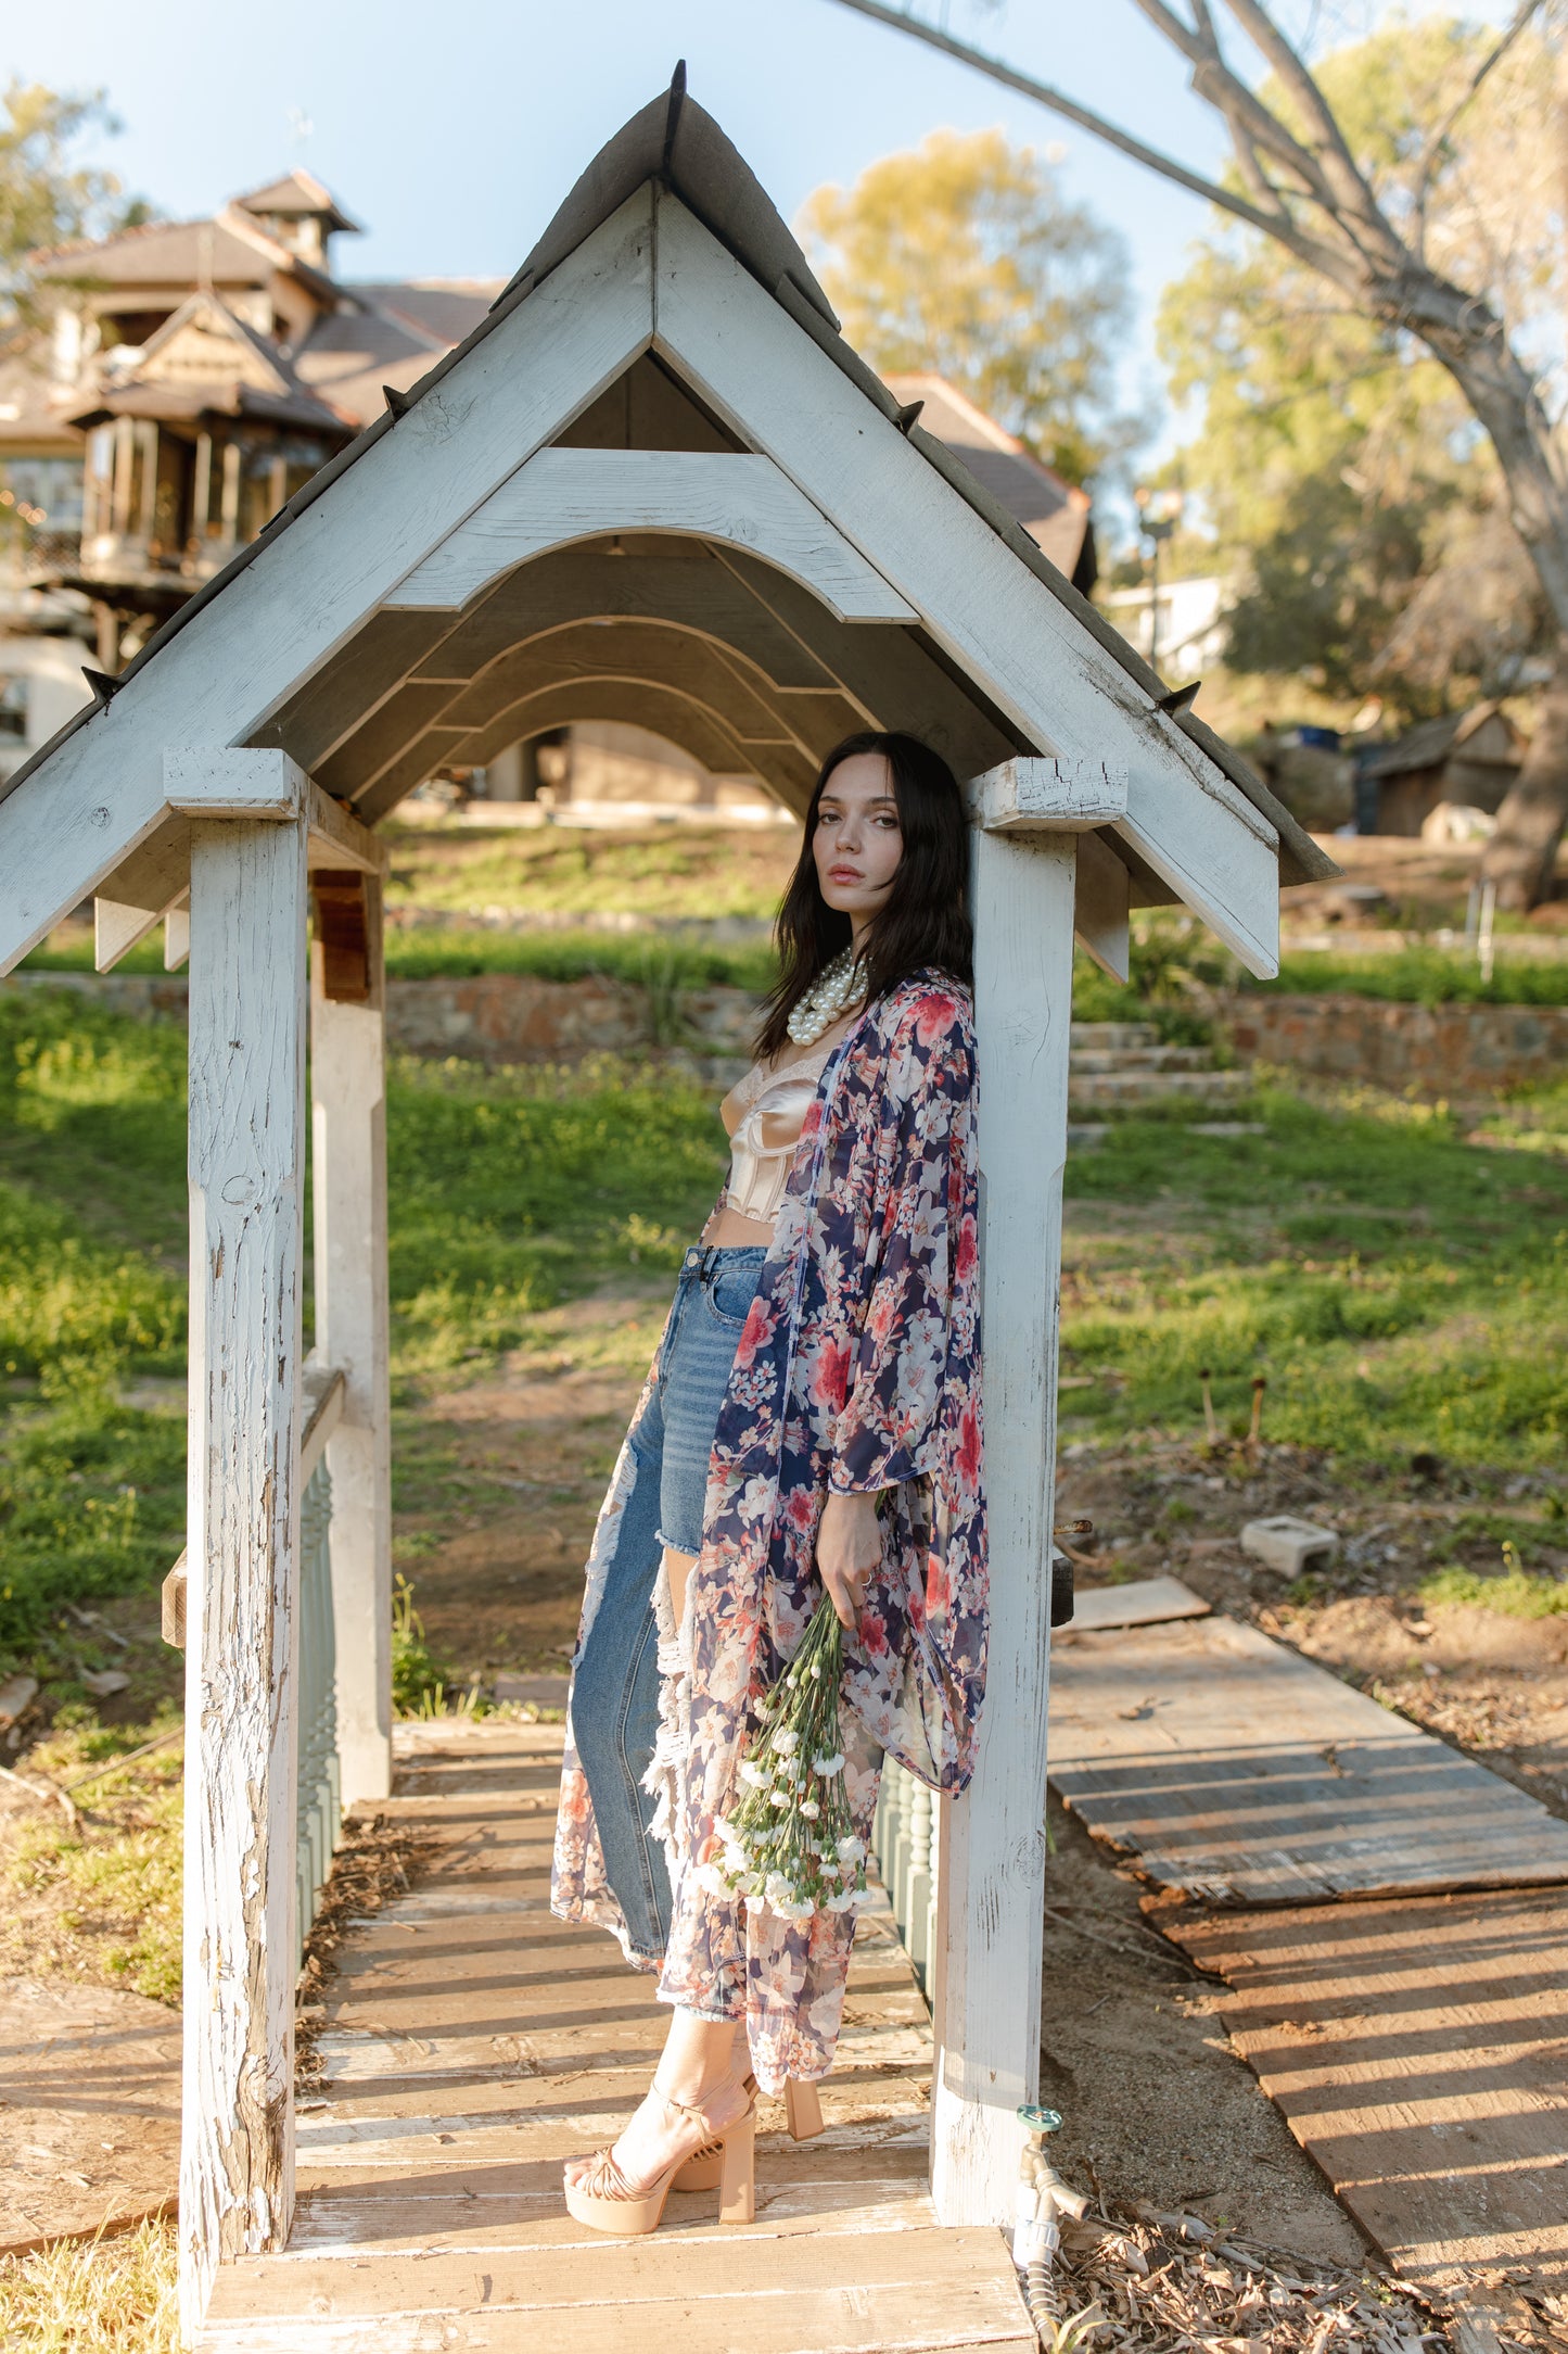
[(1568, 1893), (1150, 1911), (1399, 2272), (1568, 2286)]

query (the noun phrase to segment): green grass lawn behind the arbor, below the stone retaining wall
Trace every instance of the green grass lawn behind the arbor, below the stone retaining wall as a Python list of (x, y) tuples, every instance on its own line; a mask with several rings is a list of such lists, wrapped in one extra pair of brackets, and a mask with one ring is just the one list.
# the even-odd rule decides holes
[[(1063, 1302), (1077, 1419), (1107, 1441), (1185, 1427), (1208, 1368), (1222, 1412), (1262, 1372), (1272, 1436), (1345, 1462), (1561, 1459), (1568, 1163), (1500, 1149), (1561, 1139), (1288, 1092), (1253, 1116), (1262, 1135), (1225, 1139), (1124, 1121), (1072, 1161), (1095, 1233)], [(630, 1375), (719, 1128), (701, 1085), (651, 1066), (402, 1064), (388, 1137), (397, 1464), (433, 1514), (461, 1469), (433, 1396), (520, 1349)], [(0, 996), (0, 1671), (31, 1664), (54, 1704), (87, 1707), (82, 1667), (113, 1664), (68, 1605), (150, 1591), (183, 1542), (183, 1210), (181, 1031)]]

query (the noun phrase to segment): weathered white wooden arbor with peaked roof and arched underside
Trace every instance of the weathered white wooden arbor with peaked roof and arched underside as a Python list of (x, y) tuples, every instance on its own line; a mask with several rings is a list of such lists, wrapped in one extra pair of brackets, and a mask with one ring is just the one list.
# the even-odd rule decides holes
[[(1274, 970), (1328, 871), (837, 334), (682, 78), (484, 327), (327, 466), (0, 803), (0, 963), (87, 892), (190, 953), (186, 2323), (292, 2206), (306, 930), (346, 1796), (388, 1775), (381, 850), (433, 767), (635, 718), (802, 807), (898, 725), (971, 782), (994, 1667), (943, 1808), (933, 2192), (1011, 2213), (1034, 2093), (1058, 1212), (1074, 927), (1180, 899)], [(188, 913), (186, 913), (188, 895)], [(1001, 1281), (999, 1281), (1001, 1278)]]

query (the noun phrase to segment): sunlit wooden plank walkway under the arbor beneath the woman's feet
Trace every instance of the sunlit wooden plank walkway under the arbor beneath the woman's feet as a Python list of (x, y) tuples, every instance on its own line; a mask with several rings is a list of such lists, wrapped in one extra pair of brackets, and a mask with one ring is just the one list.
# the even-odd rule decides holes
[(400, 1728), (388, 1813), (440, 1848), (331, 1984), (299, 2116), (284, 2255), (226, 2265), (205, 2354), (896, 2354), (1034, 2330), (999, 2232), (926, 2196), (929, 2017), (886, 1909), (860, 1923), (827, 2133), (762, 2112), (757, 2220), (672, 2199), (651, 2239), (585, 2234), (562, 2161), (639, 2097), (665, 2010), (607, 1935), (550, 1919), (559, 1733)]

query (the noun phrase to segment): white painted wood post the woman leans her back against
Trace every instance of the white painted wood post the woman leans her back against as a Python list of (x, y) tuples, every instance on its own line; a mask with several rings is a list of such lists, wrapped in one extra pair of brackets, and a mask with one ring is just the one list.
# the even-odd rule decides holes
[(931, 2194), (947, 2225), (1013, 2215), (1039, 2095), (1056, 1323), (1072, 833), (973, 840), (980, 1043), (990, 1678), (980, 1758), (940, 1808)]

